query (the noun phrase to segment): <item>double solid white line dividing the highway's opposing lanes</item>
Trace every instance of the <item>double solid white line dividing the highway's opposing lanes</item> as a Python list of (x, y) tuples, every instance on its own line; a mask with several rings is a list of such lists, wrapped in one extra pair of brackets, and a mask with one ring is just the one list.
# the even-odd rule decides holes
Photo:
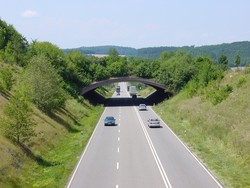
[(155, 162), (156, 162), (157, 167), (158, 167), (158, 169), (159, 169), (159, 171), (160, 171), (160, 174), (161, 174), (161, 176), (162, 176), (162, 179), (163, 179), (163, 181), (164, 181), (164, 184), (165, 184), (165, 186), (166, 186), (167, 188), (172, 188), (172, 186), (171, 186), (171, 184), (170, 184), (170, 181), (169, 181), (169, 179), (168, 179), (168, 177), (167, 177), (167, 174), (166, 174), (166, 172), (165, 172), (165, 170), (164, 170), (164, 168), (163, 168), (163, 166), (162, 166), (162, 164), (161, 164), (161, 161), (160, 161), (160, 159), (159, 159), (159, 157), (158, 157), (158, 155), (157, 155), (157, 152), (156, 152), (156, 150), (155, 150), (155, 148), (154, 148), (154, 145), (153, 145), (153, 143), (152, 143), (152, 141), (151, 141), (151, 139), (150, 139), (150, 137), (149, 137), (149, 134), (148, 134), (148, 132), (147, 132), (147, 130), (146, 130), (146, 128), (145, 128), (145, 125), (144, 125), (144, 123), (143, 123), (143, 121), (142, 121), (142, 119), (141, 119), (141, 116), (140, 116), (140, 114), (138, 113), (137, 108), (136, 108), (135, 106), (134, 106), (134, 110), (135, 110), (136, 115), (137, 115), (137, 117), (138, 117), (138, 119), (139, 119), (139, 122), (140, 122), (140, 125), (141, 125), (141, 127), (142, 127), (142, 130), (143, 130), (143, 132), (144, 132), (144, 134), (145, 134), (145, 136), (146, 136), (146, 139), (147, 139), (147, 141), (148, 141), (148, 145), (149, 145), (150, 150), (151, 150), (151, 152), (152, 152), (152, 154), (153, 154), (153, 156), (154, 156)]

